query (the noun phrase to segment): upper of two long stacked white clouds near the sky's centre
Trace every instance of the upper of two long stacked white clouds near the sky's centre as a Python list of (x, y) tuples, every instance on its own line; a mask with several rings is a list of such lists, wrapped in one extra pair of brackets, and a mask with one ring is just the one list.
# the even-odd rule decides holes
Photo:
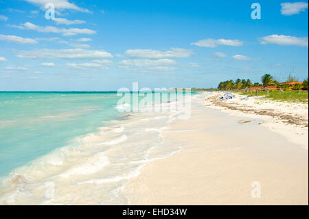
[(172, 48), (170, 51), (158, 51), (152, 49), (129, 49), (126, 55), (136, 58), (186, 58), (193, 54), (191, 50)]

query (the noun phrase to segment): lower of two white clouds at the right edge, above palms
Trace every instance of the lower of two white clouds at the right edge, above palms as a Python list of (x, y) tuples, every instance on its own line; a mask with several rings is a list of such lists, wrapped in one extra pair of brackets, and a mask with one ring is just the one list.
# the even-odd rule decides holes
[(308, 47), (308, 36), (307, 37), (296, 37), (273, 34), (270, 36), (264, 36), (261, 38), (262, 44), (273, 43), (277, 45), (298, 45), (302, 47)]

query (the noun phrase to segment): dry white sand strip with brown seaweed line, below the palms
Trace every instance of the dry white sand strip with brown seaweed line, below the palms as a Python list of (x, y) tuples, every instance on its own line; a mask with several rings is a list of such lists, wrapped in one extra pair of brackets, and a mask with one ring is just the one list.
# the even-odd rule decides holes
[(203, 104), (230, 115), (262, 119), (262, 126), (277, 132), (292, 143), (308, 150), (308, 104), (278, 102), (264, 97), (238, 95), (232, 100), (218, 100), (222, 92), (214, 92)]

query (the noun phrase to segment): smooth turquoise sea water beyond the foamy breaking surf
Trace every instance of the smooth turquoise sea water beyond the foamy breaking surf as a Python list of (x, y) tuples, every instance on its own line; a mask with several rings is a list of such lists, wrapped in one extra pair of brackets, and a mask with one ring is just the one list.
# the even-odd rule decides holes
[(1, 92), (0, 177), (118, 119), (116, 92)]

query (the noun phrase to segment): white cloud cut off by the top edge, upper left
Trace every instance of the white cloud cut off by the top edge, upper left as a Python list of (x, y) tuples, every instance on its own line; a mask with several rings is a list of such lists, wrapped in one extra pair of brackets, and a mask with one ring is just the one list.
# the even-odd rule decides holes
[(70, 3), (68, 0), (24, 0), (34, 5), (38, 5), (42, 10), (45, 10), (47, 3), (53, 3), (58, 10), (77, 10), (79, 12), (89, 12), (86, 8), (80, 8), (74, 3)]

